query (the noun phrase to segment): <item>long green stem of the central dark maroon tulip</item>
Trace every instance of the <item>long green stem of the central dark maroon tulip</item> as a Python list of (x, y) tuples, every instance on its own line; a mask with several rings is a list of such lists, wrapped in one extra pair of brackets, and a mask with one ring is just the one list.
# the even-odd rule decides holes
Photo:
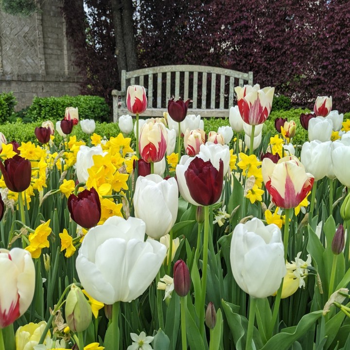
[(203, 270), (201, 285), (201, 308), (199, 312), (199, 332), (204, 338), (205, 297), (207, 291), (207, 267), (208, 267), (208, 244), (209, 244), (209, 206), (204, 207), (204, 242), (203, 242)]

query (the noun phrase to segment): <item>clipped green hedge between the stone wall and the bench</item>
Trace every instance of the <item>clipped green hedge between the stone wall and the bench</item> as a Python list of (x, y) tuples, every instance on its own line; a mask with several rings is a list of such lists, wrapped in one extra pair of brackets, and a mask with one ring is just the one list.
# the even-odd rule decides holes
[(35, 97), (33, 104), (28, 108), (26, 118), (33, 122), (44, 120), (61, 120), (65, 115), (66, 107), (78, 107), (79, 119), (93, 119), (100, 122), (110, 120), (110, 109), (105, 100), (99, 96), (62, 96), (62, 97)]

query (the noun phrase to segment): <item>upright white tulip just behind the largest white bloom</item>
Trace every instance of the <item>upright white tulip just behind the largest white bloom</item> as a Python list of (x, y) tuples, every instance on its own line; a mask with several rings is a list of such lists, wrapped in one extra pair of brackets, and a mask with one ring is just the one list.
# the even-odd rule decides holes
[(146, 224), (146, 234), (159, 239), (175, 224), (178, 207), (178, 187), (174, 177), (139, 176), (134, 193), (135, 217)]

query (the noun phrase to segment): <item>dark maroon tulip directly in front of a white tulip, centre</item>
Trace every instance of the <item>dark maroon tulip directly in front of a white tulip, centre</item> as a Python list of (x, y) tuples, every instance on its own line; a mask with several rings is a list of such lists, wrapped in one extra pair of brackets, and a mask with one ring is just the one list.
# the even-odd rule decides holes
[(224, 162), (219, 161), (219, 171), (210, 160), (194, 157), (185, 171), (185, 179), (191, 197), (200, 205), (216, 203), (222, 192), (224, 181)]

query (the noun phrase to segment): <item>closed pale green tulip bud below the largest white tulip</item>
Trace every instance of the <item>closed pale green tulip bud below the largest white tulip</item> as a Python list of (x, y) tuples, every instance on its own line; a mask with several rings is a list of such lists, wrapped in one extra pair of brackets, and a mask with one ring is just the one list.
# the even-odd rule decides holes
[(65, 313), (67, 324), (73, 332), (85, 331), (91, 322), (91, 306), (82, 290), (75, 284), (70, 287)]

